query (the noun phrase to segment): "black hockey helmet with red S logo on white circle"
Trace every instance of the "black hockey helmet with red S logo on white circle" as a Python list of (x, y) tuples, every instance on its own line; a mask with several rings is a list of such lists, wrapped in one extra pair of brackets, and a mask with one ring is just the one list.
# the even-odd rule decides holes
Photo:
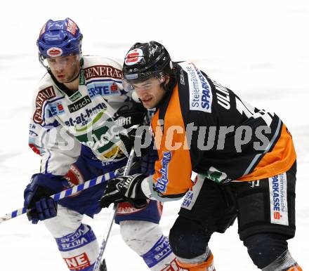
[(173, 64), (169, 52), (157, 41), (134, 44), (124, 58), (124, 80), (136, 84), (152, 77), (171, 74)]

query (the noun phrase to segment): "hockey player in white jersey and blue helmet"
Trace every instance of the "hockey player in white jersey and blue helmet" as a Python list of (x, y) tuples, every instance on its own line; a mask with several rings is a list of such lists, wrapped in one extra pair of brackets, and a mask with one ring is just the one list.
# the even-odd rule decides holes
[[(70, 270), (91, 271), (98, 241), (82, 218), (100, 211), (98, 200), (106, 183), (58, 204), (49, 196), (123, 168), (131, 144), (126, 131), (143, 123), (145, 110), (124, 90), (121, 65), (110, 58), (81, 55), (81, 40), (79, 27), (70, 18), (48, 20), (39, 34), (39, 61), (47, 73), (34, 93), (29, 146), (41, 155), (41, 169), (25, 189), (24, 205), (32, 223), (44, 220)], [(119, 117), (131, 123), (119, 124)], [(142, 166), (132, 171), (152, 171), (152, 155), (145, 155)], [(158, 201), (148, 201), (143, 209), (121, 203), (115, 221), (124, 242), (150, 270), (178, 270), (169, 240), (159, 227), (161, 214)]]

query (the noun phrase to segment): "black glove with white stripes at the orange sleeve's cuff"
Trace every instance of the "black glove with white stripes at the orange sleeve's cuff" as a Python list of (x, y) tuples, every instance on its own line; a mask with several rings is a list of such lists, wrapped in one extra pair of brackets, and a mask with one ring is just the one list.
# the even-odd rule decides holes
[(147, 197), (140, 184), (146, 178), (143, 174), (119, 176), (108, 181), (103, 196), (100, 199), (102, 208), (110, 204), (128, 201), (134, 208), (140, 209), (147, 205)]

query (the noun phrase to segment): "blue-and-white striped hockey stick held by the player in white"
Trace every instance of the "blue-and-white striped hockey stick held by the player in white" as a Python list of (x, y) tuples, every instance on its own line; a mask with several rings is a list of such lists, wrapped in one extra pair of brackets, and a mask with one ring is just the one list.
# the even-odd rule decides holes
[[(63, 190), (63, 191), (61, 191), (57, 194), (51, 195), (51, 198), (54, 201), (59, 201), (60, 199), (64, 199), (65, 197), (70, 197), (70, 196), (72, 196), (72, 194), (86, 190), (90, 187), (98, 185), (99, 183), (103, 183), (107, 180), (110, 180), (111, 178), (114, 178), (117, 175), (117, 171), (118, 170), (111, 171), (111, 172), (105, 173), (102, 176), (98, 176), (97, 178), (93, 178), (92, 180), (87, 180), (85, 183), (81, 183), (80, 185), (74, 185), (73, 187), (71, 187), (67, 190)], [(11, 213), (6, 213), (5, 216), (0, 217), (0, 223), (3, 223), (7, 220), (10, 220), (11, 218), (15, 218), (17, 216), (20, 216), (20, 215), (22, 215), (23, 213), (26, 213), (26, 212), (27, 212), (26, 208), (21, 208), (21, 209), (13, 211)]]

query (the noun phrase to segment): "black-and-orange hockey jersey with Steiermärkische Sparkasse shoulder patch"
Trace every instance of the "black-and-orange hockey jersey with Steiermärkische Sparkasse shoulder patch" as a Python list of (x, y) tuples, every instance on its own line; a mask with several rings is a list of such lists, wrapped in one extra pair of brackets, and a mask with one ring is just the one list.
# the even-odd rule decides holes
[(294, 164), (291, 134), (276, 114), (244, 103), (191, 62), (176, 69), (176, 85), (152, 118), (156, 194), (181, 197), (192, 171), (226, 183), (268, 178)]

